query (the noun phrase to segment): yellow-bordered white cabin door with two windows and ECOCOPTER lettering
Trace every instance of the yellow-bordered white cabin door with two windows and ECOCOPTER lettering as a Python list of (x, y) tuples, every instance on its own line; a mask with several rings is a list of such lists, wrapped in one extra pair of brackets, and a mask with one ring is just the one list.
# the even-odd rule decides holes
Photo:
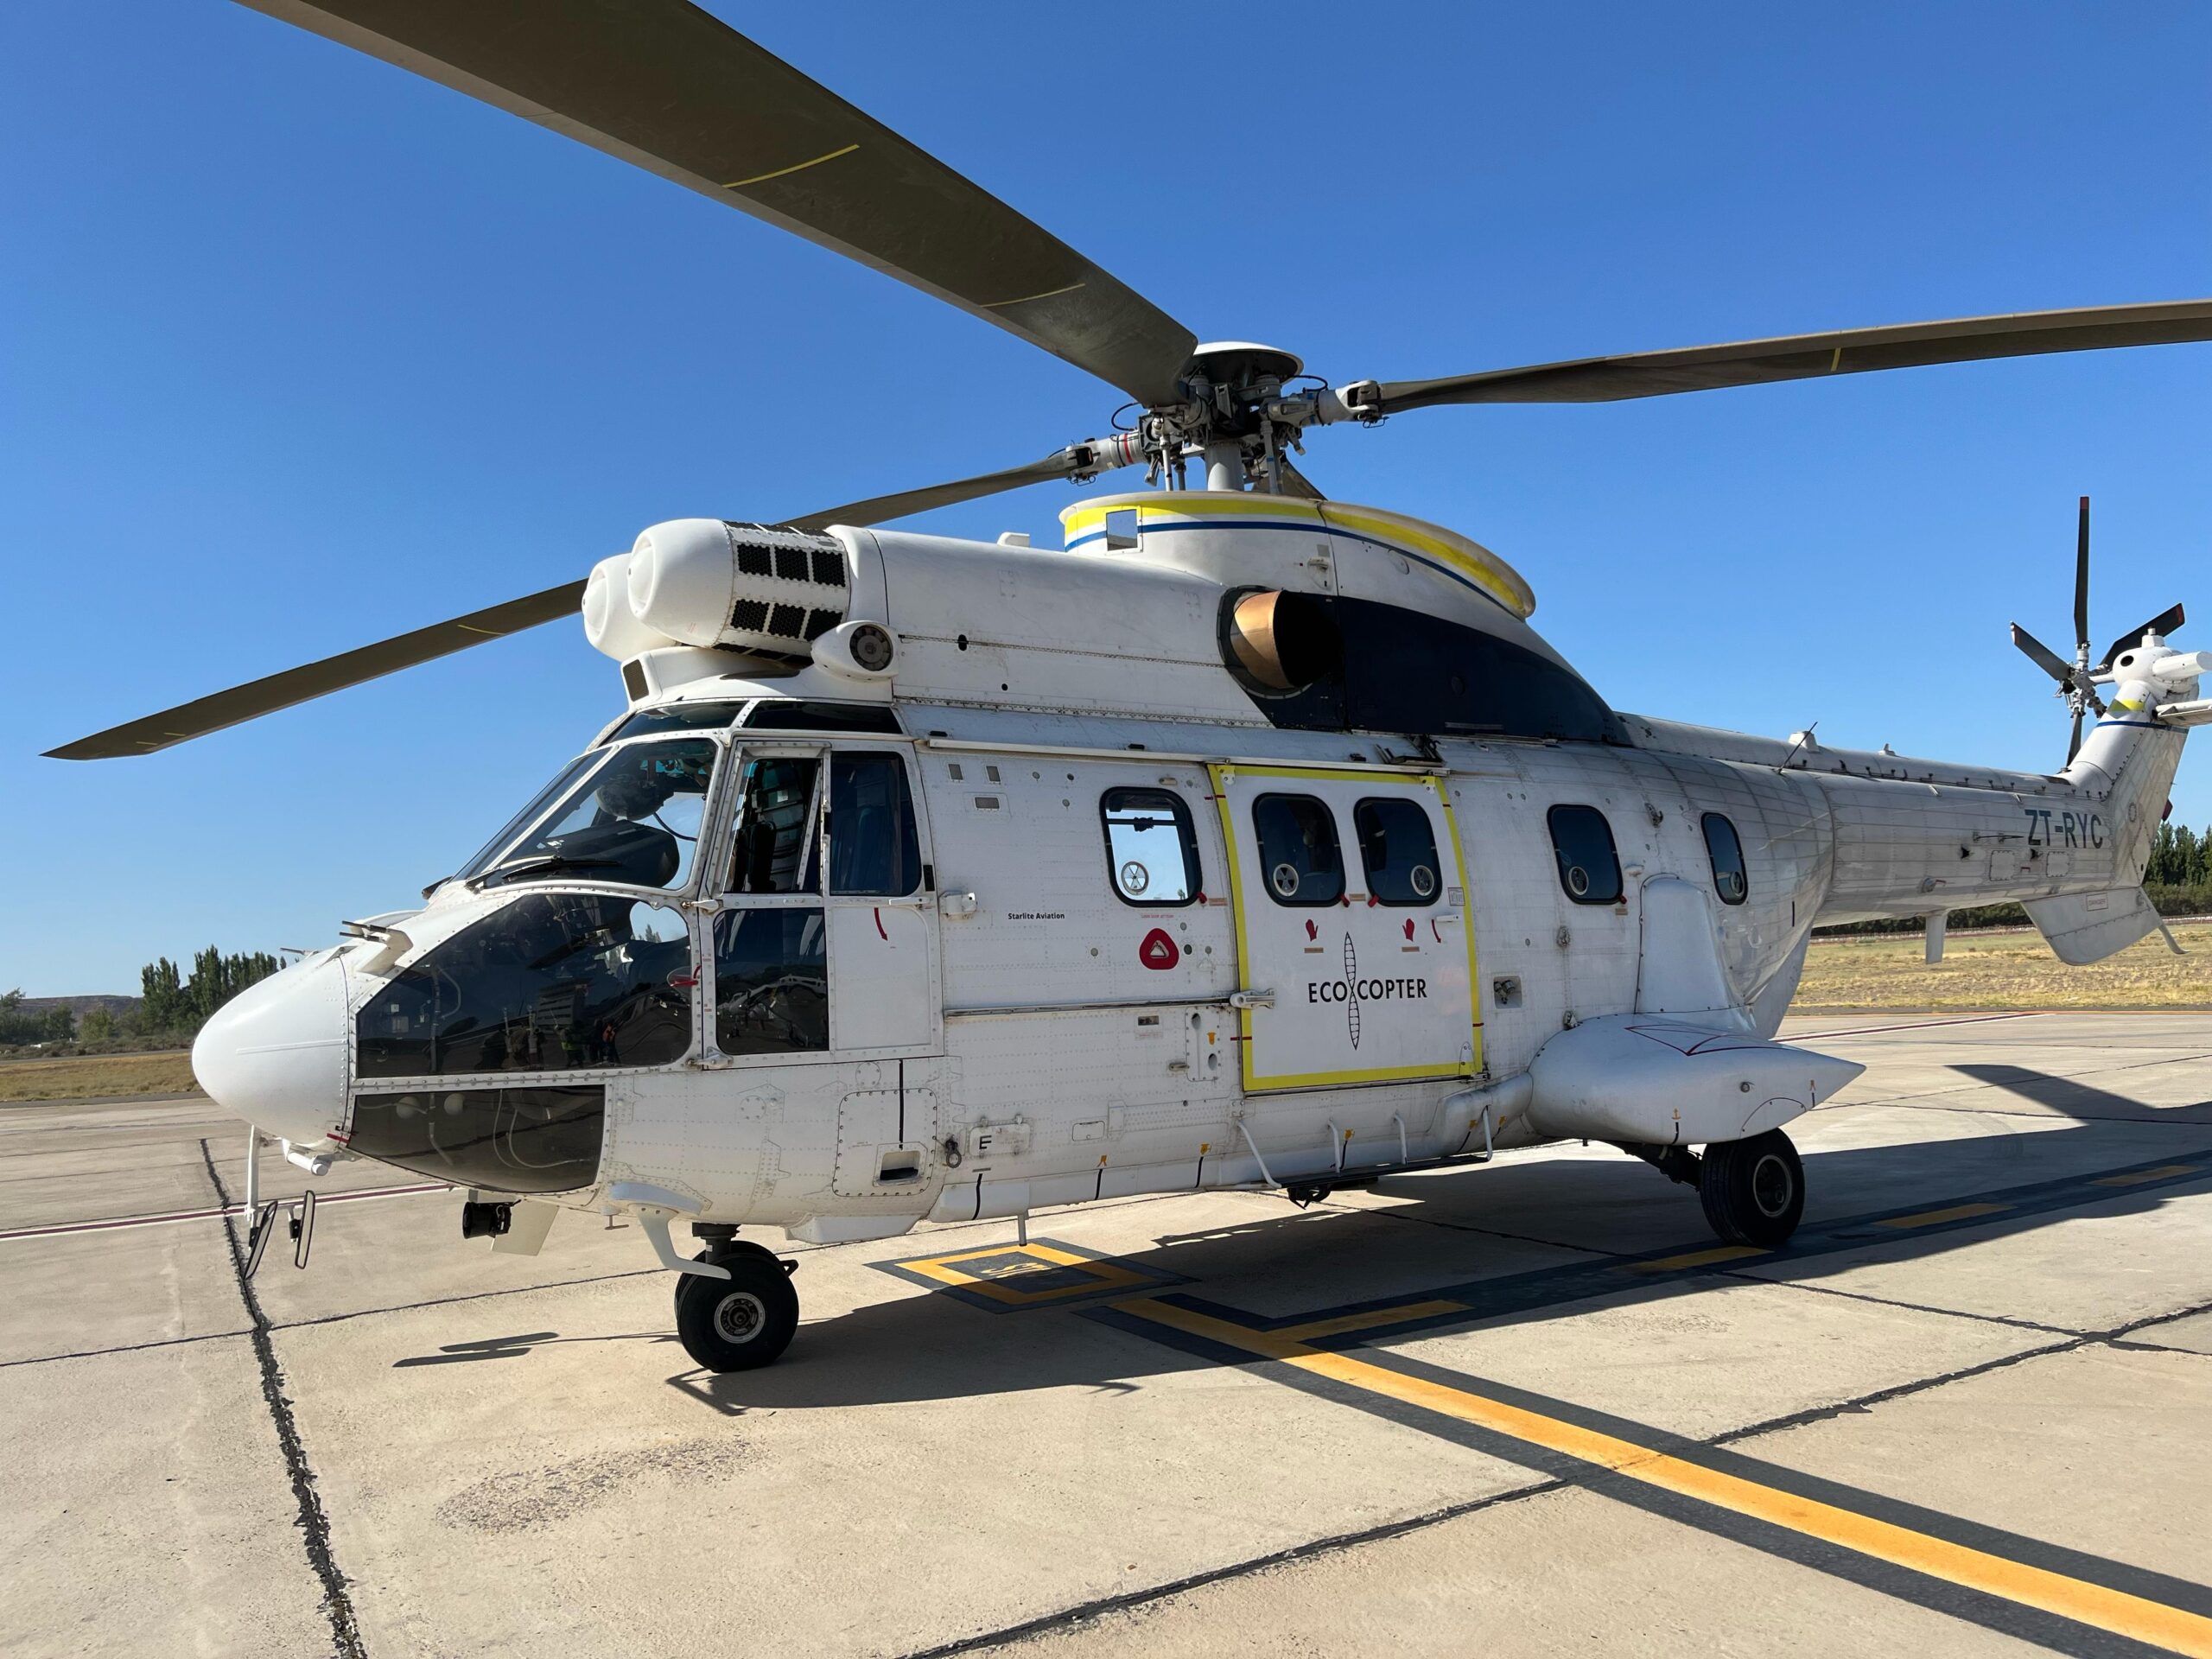
[(1314, 1088), (1482, 1068), (1475, 938), (1433, 776), (1214, 765), (1245, 998), (1243, 1084)]

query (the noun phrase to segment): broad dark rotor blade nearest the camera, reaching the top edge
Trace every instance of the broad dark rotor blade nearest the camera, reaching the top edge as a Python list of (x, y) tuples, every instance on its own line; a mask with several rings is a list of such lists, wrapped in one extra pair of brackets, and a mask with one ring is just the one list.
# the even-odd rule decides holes
[(874, 265), (1170, 403), (1190, 330), (686, 0), (243, 0)]

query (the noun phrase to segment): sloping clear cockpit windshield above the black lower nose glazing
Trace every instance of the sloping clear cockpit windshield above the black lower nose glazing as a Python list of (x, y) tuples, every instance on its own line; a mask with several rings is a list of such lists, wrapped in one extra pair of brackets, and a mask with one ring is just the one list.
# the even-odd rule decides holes
[(681, 887), (690, 880), (719, 759), (721, 745), (706, 737), (580, 757), (460, 874), (473, 887), (566, 876)]

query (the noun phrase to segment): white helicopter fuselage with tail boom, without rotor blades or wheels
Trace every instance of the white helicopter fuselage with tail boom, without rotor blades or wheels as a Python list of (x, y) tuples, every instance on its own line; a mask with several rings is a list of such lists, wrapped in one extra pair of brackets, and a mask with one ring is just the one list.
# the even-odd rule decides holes
[[(1816, 922), (2013, 898), (2068, 960), (2157, 925), (2197, 692), (2163, 644), (2042, 776), (1615, 714), (1504, 562), (1396, 513), (1064, 520), (648, 531), (593, 575), (630, 708), (566, 781), (681, 774), (679, 872), (597, 878), (549, 790), (219, 1013), (201, 1079), (307, 1159), (522, 1212), (872, 1239), (1734, 1141), (1858, 1071), (1772, 1042)], [(1243, 637), (1250, 595), (1310, 611)], [(1298, 626), (1336, 630), (1303, 670)]]

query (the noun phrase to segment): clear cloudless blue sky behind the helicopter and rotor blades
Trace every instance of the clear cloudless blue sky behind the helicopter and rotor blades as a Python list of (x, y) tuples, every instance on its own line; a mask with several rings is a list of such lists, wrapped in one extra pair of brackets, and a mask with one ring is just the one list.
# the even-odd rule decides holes
[[(2212, 292), (2199, 4), (717, 9), (1201, 336), (1338, 383)], [(400, 905), (619, 684), (555, 624), (142, 761), (38, 750), (1119, 403), (219, 0), (4, 9), (0, 210), (0, 989)], [(2194, 345), (1444, 409), (1305, 465), (1504, 553), (1619, 708), (2051, 768), (2004, 624), (2064, 641), (2077, 495), (2097, 639), (2181, 597), (2212, 644), (2208, 380)], [(925, 524), (1044, 542), (1068, 500)], [(2174, 812), (2212, 821), (2212, 757)]]

